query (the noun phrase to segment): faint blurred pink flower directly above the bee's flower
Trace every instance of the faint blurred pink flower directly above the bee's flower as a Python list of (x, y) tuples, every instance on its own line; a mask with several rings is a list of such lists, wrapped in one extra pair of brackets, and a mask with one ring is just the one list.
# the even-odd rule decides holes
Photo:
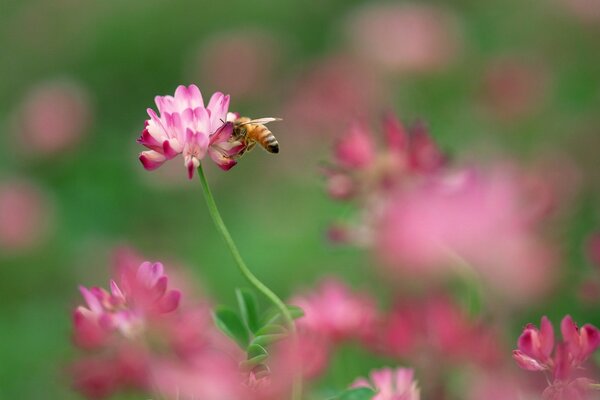
[(189, 73), (193, 80), (222, 88), (236, 98), (256, 92), (263, 98), (269, 92), (278, 54), (279, 46), (270, 32), (229, 30), (210, 37), (195, 50)]

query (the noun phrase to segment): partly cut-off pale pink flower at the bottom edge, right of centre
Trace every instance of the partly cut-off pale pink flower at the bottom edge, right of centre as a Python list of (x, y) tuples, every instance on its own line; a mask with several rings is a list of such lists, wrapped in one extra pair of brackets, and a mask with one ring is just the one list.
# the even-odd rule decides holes
[(377, 394), (373, 400), (419, 400), (419, 388), (408, 368), (384, 368), (371, 371), (370, 380), (359, 378), (352, 387), (370, 387)]

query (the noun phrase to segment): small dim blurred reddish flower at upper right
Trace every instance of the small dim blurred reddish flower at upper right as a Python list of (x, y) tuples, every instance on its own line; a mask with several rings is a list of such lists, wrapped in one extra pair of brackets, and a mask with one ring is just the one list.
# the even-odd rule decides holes
[(514, 56), (492, 60), (483, 78), (483, 103), (488, 112), (502, 119), (527, 116), (543, 104), (549, 80), (541, 62)]

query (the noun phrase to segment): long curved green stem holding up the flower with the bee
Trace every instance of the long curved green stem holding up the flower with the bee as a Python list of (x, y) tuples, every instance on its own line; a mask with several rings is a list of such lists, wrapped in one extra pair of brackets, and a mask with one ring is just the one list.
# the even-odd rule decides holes
[[(208, 206), (208, 211), (210, 216), (215, 223), (217, 230), (223, 236), (231, 255), (235, 263), (237, 264), (240, 272), (244, 277), (250, 282), (252, 286), (256, 288), (260, 293), (262, 293), (273, 305), (279, 309), (285, 324), (287, 325), (288, 330), (290, 331), (290, 335), (292, 337), (293, 345), (297, 348), (298, 346), (298, 338), (296, 334), (296, 325), (294, 323), (294, 319), (290, 314), (290, 311), (286, 307), (285, 303), (271, 290), (262, 283), (253, 273), (250, 271), (246, 263), (244, 262), (233, 238), (229, 234), (229, 230), (227, 226), (225, 226), (225, 222), (223, 222), (223, 218), (221, 218), (221, 214), (219, 213), (219, 209), (217, 208), (217, 204), (215, 203), (215, 199), (212, 195), (210, 187), (208, 186), (208, 181), (206, 180), (206, 176), (204, 175), (204, 170), (202, 169), (202, 164), (198, 166), (198, 177), (200, 178), (200, 183), (202, 184), (202, 191), (204, 192), (204, 199), (206, 200), (206, 205)], [(301, 373), (297, 374), (294, 378), (294, 384), (292, 388), (292, 400), (299, 400), (301, 398), (302, 393), (302, 377)]]

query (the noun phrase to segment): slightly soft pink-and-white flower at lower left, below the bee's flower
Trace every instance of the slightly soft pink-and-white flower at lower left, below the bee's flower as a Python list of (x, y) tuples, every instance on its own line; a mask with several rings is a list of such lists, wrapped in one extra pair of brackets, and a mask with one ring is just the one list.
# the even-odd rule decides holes
[(82, 347), (94, 347), (114, 330), (127, 338), (144, 330), (147, 319), (169, 313), (179, 304), (181, 293), (167, 290), (168, 278), (161, 263), (144, 262), (135, 275), (124, 274), (121, 286), (110, 282), (110, 292), (81, 286), (86, 306), (74, 313), (75, 341)]

